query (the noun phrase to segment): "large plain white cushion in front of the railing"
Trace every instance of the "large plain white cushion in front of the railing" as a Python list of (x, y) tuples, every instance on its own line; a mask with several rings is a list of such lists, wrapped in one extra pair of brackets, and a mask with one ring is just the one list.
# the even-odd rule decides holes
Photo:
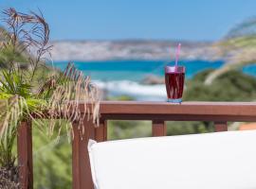
[(255, 189), (256, 131), (89, 142), (97, 189)]

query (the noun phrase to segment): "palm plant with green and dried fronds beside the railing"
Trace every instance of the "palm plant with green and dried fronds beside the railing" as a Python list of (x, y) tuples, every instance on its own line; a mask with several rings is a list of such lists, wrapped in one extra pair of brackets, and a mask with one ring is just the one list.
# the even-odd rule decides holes
[[(5, 52), (10, 55), (5, 59), (5, 69), (0, 71), (0, 167), (12, 169), (15, 167), (13, 143), (22, 121), (33, 121), (40, 128), (45, 126), (42, 120), (47, 118), (48, 135), (53, 135), (53, 130), (61, 133), (66, 129), (69, 136), (70, 124), (56, 124), (56, 120), (62, 116), (66, 123), (82, 123), (84, 116), (90, 116), (97, 124), (100, 96), (90, 78), (83, 77), (73, 64), (68, 64), (64, 73), (51, 69), (43, 79), (36, 77), (39, 70), (46, 69), (45, 60), (51, 49), (49, 27), (42, 13), (6, 9), (2, 21), (7, 30), (2, 29), (0, 35), (4, 37), (0, 55)], [(22, 69), (17, 57), (23, 57), (29, 69)], [(84, 112), (80, 111), (80, 100)]]

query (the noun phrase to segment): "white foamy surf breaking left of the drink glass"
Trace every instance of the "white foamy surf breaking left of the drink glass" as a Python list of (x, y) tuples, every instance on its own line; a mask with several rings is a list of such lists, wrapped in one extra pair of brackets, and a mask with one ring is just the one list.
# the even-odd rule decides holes
[(166, 100), (165, 85), (144, 85), (130, 80), (103, 82), (95, 80), (94, 83), (109, 96), (128, 95), (135, 100), (163, 101)]

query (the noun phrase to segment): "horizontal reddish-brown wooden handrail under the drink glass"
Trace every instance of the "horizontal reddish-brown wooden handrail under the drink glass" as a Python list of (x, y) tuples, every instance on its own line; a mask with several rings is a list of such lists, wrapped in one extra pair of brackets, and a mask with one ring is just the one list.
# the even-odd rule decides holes
[(256, 102), (134, 102), (103, 101), (101, 114), (174, 114), (174, 115), (227, 115), (255, 116)]

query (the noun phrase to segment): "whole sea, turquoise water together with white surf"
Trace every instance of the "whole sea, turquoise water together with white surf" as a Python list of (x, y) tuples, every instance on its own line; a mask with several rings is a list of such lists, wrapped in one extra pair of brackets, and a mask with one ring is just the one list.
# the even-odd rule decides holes
[[(174, 65), (168, 60), (99, 60), (72, 61), (85, 76), (99, 86), (108, 96), (128, 95), (139, 101), (166, 100), (163, 84), (146, 85), (141, 81), (145, 77), (164, 77), (164, 67)], [(179, 65), (186, 66), (186, 79), (206, 69), (223, 66), (222, 60), (180, 60)], [(53, 61), (53, 66), (64, 70), (68, 61)], [(256, 64), (241, 68), (244, 73), (256, 77)]]

